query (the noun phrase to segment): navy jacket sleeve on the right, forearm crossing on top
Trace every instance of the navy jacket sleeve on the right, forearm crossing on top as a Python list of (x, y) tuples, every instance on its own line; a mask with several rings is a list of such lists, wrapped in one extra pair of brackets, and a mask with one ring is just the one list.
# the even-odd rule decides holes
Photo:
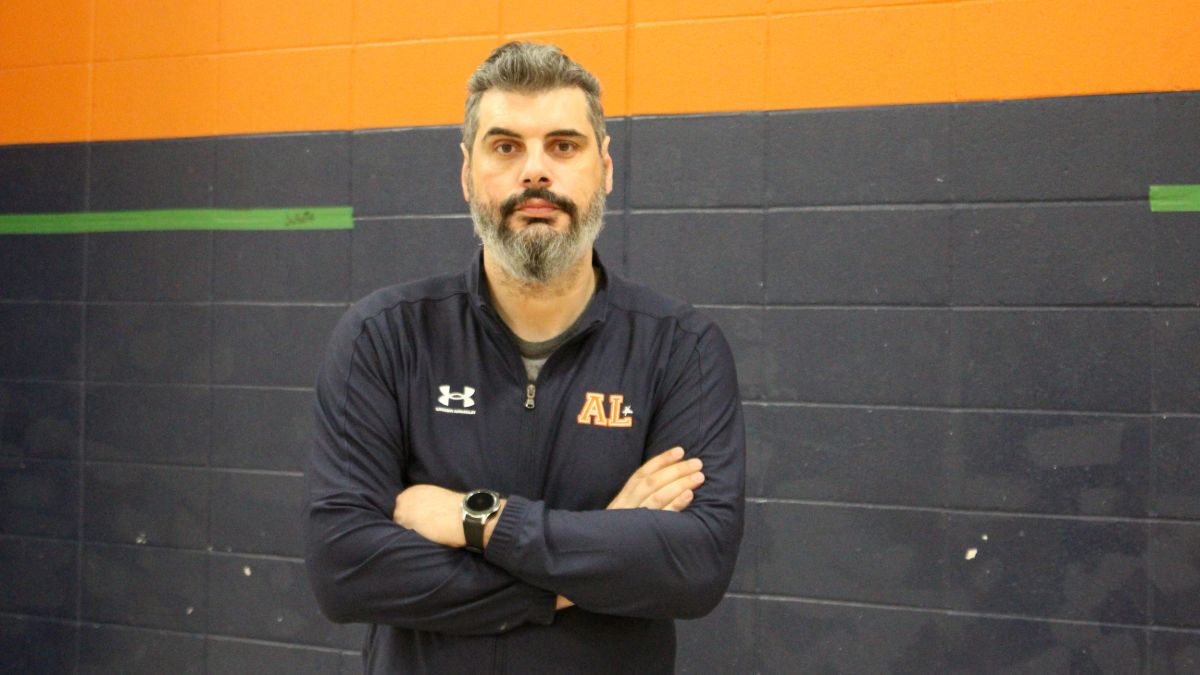
[(742, 540), (745, 435), (725, 338), (710, 325), (694, 345), (659, 399), (647, 447), (647, 456), (682, 446), (703, 460), (692, 503), (568, 512), (510, 497), (487, 560), (589, 611), (692, 619), (716, 607)]

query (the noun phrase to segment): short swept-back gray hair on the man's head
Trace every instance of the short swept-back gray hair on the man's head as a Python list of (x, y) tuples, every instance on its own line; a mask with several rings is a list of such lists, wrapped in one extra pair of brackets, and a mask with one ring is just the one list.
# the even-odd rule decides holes
[(479, 131), (479, 100), (490, 89), (540, 94), (563, 86), (577, 86), (588, 101), (588, 121), (595, 130), (598, 149), (604, 148), (604, 108), (600, 80), (553, 44), (509, 42), (497, 47), (467, 80), (467, 114), (462, 143), (470, 153)]

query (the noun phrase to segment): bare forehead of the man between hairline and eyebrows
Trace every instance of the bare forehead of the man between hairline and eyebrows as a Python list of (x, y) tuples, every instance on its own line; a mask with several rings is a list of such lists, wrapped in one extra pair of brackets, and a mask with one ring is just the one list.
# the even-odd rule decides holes
[(564, 86), (523, 94), (491, 89), (479, 100), (479, 135), (502, 127), (526, 137), (541, 136), (552, 130), (572, 129), (592, 135), (588, 121), (588, 101), (577, 86)]

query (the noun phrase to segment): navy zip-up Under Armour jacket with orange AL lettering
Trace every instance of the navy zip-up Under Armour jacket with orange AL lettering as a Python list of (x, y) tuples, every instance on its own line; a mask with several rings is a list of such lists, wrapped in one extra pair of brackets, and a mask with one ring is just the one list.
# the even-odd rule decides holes
[[(672, 619), (720, 602), (744, 492), (728, 345), (686, 304), (602, 277), (535, 389), (481, 256), (377, 291), (335, 329), (306, 560), (322, 610), (371, 625), (367, 673), (671, 673)], [(686, 509), (605, 510), (674, 446), (704, 462)], [(484, 555), (392, 522), (396, 494), (420, 483), (508, 495)], [(556, 613), (559, 593), (576, 607)]]

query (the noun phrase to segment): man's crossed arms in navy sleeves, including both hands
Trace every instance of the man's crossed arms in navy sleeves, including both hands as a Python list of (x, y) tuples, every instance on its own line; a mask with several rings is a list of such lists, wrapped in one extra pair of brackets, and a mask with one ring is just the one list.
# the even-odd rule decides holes
[[(608, 508), (562, 510), (511, 495), (476, 555), (460, 549), (461, 494), (406, 485), (400, 369), (378, 346), (386, 339), (361, 327), (340, 324), (317, 386), (306, 565), (326, 616), (492, 634), (552, 623), (564, 598), (643, 617), (700, 616), (720, 601), (742, 534), (744, 438), (719, 334), (673, 366), (648, 422), (659, 454)], [(672, 440), (692, 459), (662, 452)]]

